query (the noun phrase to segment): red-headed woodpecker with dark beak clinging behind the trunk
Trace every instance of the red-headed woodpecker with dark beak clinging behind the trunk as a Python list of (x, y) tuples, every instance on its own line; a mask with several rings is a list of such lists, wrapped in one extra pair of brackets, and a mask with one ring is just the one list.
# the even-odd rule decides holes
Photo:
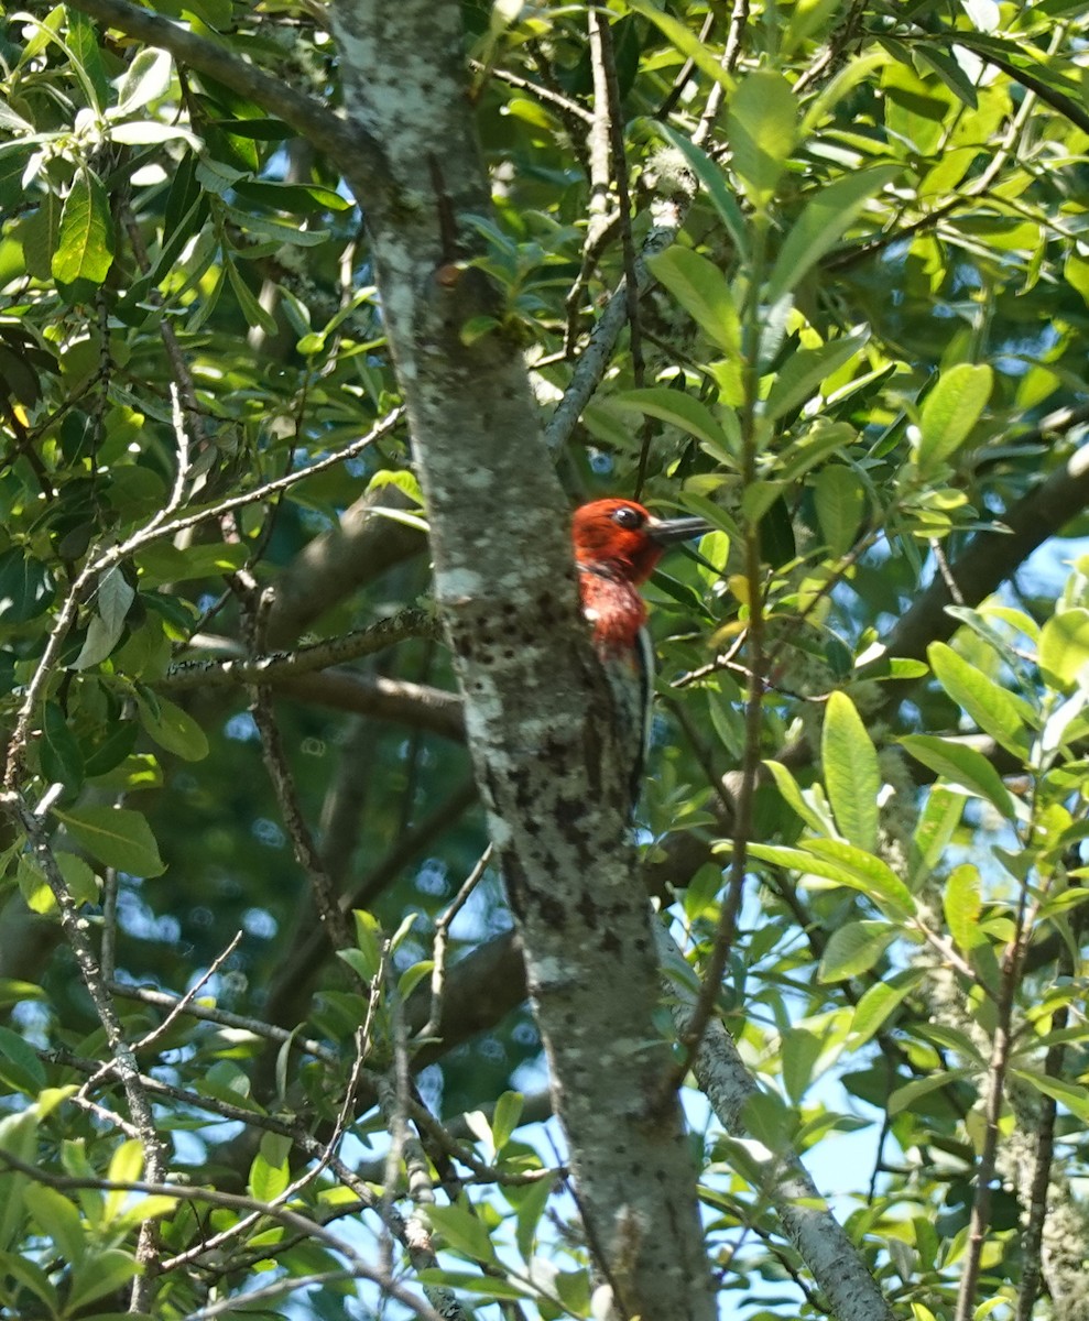
[(596, 499), (575, 510), (571, 538), (579, 567), (583, 614), (613, 701), (621, 756), (630, 766), (630, 798), (638, 798), (654, 696), (654, 651), (640, 594), (673, 542), (710, 531), (702, 518), (656, 518), (630, 499)]

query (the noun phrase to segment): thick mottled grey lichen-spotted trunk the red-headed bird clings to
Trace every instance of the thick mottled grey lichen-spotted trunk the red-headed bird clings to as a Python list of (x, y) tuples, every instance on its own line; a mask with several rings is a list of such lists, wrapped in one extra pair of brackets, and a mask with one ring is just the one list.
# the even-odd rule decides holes
[(439, 606), (465, 694), (490, 828), (571, 1148), (591, 1250), (617, 1316), (714, 1314), (695, 1172), (656, 1040), (652, 914), (625, 840), (626, 775), (578, 616), (567, 514), (517, 345), (465, 347), (496, 312), (464, 266), (489, 197), (460, 11), (341, 0), (349, 116), (389, 177), (353, 181), (408, 408)]

